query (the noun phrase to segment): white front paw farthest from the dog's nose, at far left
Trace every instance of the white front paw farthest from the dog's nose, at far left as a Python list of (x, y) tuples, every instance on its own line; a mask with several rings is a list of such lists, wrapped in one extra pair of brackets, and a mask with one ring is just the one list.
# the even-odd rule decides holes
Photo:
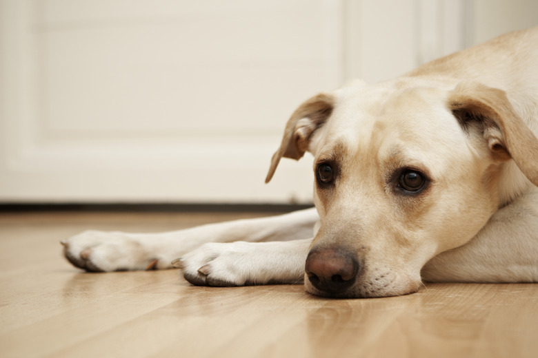
[(85, 231), (62, 240), (63, 255), (74, 266), (91, 272), (166, 268), (140, 240), (127, 233)]

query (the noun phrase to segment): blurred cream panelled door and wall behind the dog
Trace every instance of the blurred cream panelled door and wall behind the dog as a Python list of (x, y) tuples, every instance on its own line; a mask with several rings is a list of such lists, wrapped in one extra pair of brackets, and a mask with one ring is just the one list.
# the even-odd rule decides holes
[(510, 30), (535, 0), (0, 0), (0, 204), (311, 202), (295, 107)]

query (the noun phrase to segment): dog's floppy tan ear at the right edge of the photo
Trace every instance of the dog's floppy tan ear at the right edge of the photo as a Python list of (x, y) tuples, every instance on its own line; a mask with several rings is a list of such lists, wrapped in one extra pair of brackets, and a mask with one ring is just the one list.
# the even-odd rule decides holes
[(478, 124), (497, 161), (512, 158), (538, 186), (538, 139), (515, 112), (501, 89), (481, 83), (459, 83), (449, 97), (452, 114), (465, 130)]

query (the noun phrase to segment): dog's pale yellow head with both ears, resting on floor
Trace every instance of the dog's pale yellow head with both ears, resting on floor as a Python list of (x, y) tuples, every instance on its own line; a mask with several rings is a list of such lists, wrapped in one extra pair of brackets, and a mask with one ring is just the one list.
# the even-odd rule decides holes
[(410, 79), (312, 97), (288, 121), (267, 181), (305, 151), (321, 220), (306, 260), (316, 295), (415, 292), (428, 260), (538, 185), (537, 138), (503, 91), (478, 83)]

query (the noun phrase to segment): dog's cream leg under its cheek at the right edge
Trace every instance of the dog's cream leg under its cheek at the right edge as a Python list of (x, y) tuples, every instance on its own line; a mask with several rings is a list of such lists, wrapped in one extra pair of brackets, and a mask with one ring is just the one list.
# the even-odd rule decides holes
[(422, 268), (430, 282), (538, 282), (538, 188), (499, 209), (468, 244)]

